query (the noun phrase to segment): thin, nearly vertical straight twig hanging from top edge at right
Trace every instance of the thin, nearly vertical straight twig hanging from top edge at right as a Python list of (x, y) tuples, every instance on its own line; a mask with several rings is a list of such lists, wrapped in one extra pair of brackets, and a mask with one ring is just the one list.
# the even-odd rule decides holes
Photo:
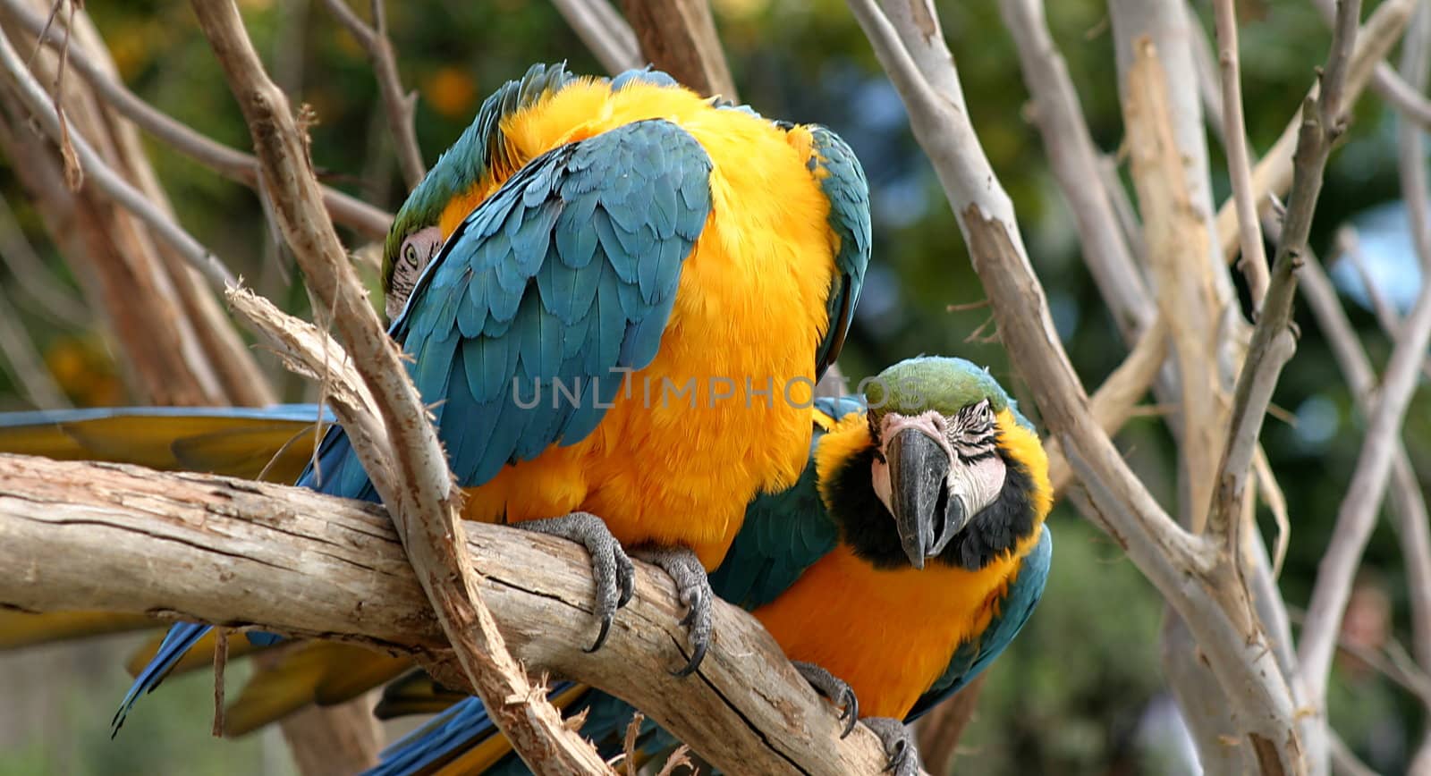
[(1218, 64), (1222, 76), (1222, 137), (1228, 152), (1228, 176), (1238, 212), (1238, 236), (1242, 261), (1238, 269), (1246, 275), (1252, 292), (1252, 309), (1262, 308), (1266, 298), (1266, 251), (1262, 229), (1258, 228), (1256, 200), (1252, 195), (1252, 169), (1248, 166), (1248, 137), (1242, 119), (1242, 76), (1238, 69), (1238, 19), (1232, 0), (1213, 0), (1218, 33)]

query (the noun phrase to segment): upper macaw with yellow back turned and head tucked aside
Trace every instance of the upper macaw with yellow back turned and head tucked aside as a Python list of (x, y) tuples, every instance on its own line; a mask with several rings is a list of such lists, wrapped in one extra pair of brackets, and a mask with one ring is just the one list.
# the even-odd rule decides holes
[[(869, 252), (864, 173), (827, 129), (658, 72), (538, 64), (399, 209), (389, 334), (464, 517), (587, 547), (591, 649), (631, 596), (622, 545), (663, 567), (690, 610), (684, 674), (710, 640), (705, 571), (751, 498), (804, 467), (801, 402), (840, 351)], [(299, 484), (378, 498), (339, 427)], [(170, 629), (116, 730), (206, 631)]]

